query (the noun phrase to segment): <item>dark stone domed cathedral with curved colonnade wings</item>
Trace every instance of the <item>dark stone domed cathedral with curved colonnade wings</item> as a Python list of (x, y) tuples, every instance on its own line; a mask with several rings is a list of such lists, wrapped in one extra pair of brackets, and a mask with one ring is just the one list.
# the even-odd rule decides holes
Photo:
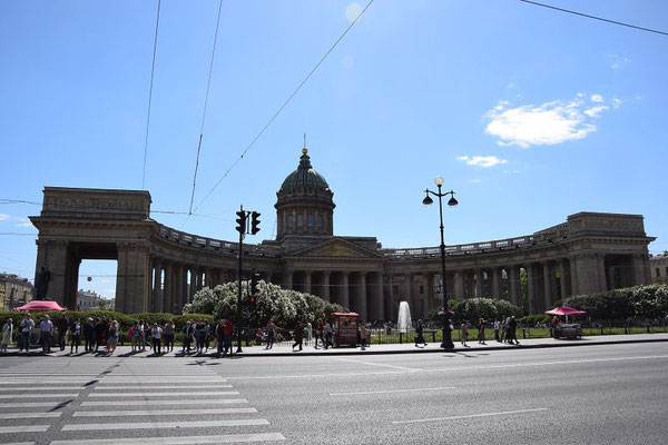
[[(238, 245), (175, 230), (150, 218), (150, 194), (45, 187), (37, 270), (51, 271), (49, 297), (76, 307), (82, 259), (117, 259), (116, 309), (179, 313), (205, 286), (233, 280)], [(265, 280), (340, 303), (365, 319), (393, 319), (400, 300), (414, 318), (441, 306), (439, 247), (384, 249), (373, 237), (334, 235), (333, 192), (311, 166), (299, 165), (277, 192), (275, 240), (245, 246), (247, 270)], [(527, 277), (531, 313), (560, 298), (647, 284), (642, 216), (580, 212), (532, 235), (449, 246), (448, 293), (520, 303)], [(36, 271), (37, 275), (37, 271)]]

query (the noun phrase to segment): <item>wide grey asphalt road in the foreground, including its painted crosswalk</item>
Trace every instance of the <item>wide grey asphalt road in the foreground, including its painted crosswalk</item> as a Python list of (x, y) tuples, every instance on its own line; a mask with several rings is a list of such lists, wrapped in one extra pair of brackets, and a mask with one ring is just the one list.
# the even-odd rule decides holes
[(667, 443), (667, 408), (668, 343), (0, 359), (0, 443), (646, 445)]

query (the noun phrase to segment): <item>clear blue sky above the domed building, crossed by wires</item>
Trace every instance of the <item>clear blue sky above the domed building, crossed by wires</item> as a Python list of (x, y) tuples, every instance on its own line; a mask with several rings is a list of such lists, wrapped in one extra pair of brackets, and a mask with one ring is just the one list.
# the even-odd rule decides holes
[[(156, 1), (0, 3), (0, 198), (43, 186), (141, 188)], [(350, 24), (352, 1), (224, 1), (195, 204)], [(664, 1), (551, 4), (668, 30)], [(146, 189), (187, 211), (218, 1), (161, 4)], [(347, 14), (346, 14), (347, 12)], [(154, 215), (235, 239), (239, 204), (274, 233), (276, 190), (306, 132), (334, 191), (337, 235), (439, 243), (422, 190), (460, 206), (446, 244), (531, 234), (578, 211), (645, 215), (668, 249), (668, 37), (499, 1), (376, 0), (215, 191), (210, 217)], [(35, 234), (39, 206), (0, 205), (0, 231)], [(32, 236), (0, 236), (0, 270), (32, 278)], [(115, 265), (80, 281), (114, 293)]]

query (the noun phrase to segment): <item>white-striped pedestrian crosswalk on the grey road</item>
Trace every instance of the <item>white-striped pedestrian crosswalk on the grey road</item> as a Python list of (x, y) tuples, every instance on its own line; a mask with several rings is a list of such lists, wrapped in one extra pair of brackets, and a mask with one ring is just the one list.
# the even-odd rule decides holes
[(109, 357), (72, 366), (52, 358), (0, 369), (0, 444), (285, 439), (234, 385), (197, 364)]

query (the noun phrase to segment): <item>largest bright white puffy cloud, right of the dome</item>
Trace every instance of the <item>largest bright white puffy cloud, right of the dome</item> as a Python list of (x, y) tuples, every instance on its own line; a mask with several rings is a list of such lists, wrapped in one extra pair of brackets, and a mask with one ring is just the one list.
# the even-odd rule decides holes
[[(603, 100), (600, 95), (591, 95), (590, 99)], [(615, 99), (612, 103), (618, 108)], [(500, 146), (551, 146), (586, 138), (597, 130), (592, 119), (608, 109), (607, 106), (587, 107), (582, 92), (569, 102), (553, 100), (539, 106), (511, 108), (508, 101), (500, 101), (484, 115), (489, 119), (485, 132), (499, 138)]]

